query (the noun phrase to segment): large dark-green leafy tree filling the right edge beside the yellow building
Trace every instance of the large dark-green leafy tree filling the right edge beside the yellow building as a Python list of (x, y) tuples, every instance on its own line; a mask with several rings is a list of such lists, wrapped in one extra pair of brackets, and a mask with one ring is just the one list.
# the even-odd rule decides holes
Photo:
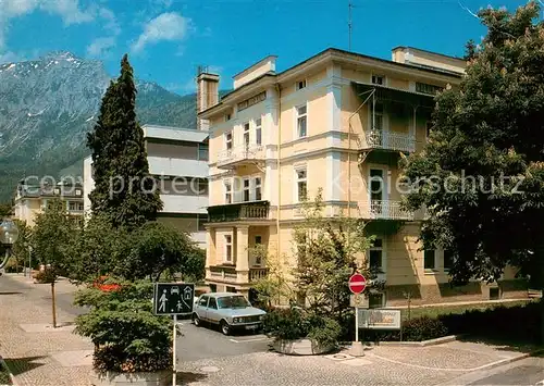
[(539, 12), (531, 1), (515, 13), (479, 13), (487, 35), (460, 88), (437, 96), (425, 150), (404, 161), (412, 184), (407, 204), (426, 208), (422, 241), (453, 252), (454, 283), (496, 281), (514, 265), (530, 273), (532, 285), (544, 287), (544, 24)]

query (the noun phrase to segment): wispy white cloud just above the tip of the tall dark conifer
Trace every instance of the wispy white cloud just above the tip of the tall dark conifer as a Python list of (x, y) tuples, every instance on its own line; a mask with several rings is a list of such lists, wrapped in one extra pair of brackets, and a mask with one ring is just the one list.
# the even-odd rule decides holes
[(139, 52), (147, 45), (152, 45), (161, 40), (182, 40), (188, 30), (190, 20), (183, 17), (175, 12), (162, 13), (149, 21), (144, 27), (144, 33), (133, 45), (133, 51)]

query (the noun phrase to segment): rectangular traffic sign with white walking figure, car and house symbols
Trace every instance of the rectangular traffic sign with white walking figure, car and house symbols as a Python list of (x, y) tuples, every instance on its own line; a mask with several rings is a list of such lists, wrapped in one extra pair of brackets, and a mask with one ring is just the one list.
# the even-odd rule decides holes
[(195, 285), (186, 283), (156, 283), (153, 312), (156, 315), (184, 315), (193, 313)]

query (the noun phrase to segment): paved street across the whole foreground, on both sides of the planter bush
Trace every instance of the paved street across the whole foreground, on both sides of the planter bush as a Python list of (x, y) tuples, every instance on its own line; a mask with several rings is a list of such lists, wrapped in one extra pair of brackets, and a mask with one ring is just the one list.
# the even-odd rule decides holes
[[(74, 287), (57, 285), (59, 321), (85, 310), (72, 306)], [(49, 286), (22, 276), (0, 277), (0, 354), (21, 386), (88, 386), (91, 344), (50, 323)], [(430, 347), (371, 347), (362, 358), (347, 351), (288, 357), (269, 349), (262, 335), (224, 336), (181, 322), (177, 339), (180, 385), (536, 385), (543, 358), (470, 341)], [(511, 363), (510, 363), (511, 362)]]

